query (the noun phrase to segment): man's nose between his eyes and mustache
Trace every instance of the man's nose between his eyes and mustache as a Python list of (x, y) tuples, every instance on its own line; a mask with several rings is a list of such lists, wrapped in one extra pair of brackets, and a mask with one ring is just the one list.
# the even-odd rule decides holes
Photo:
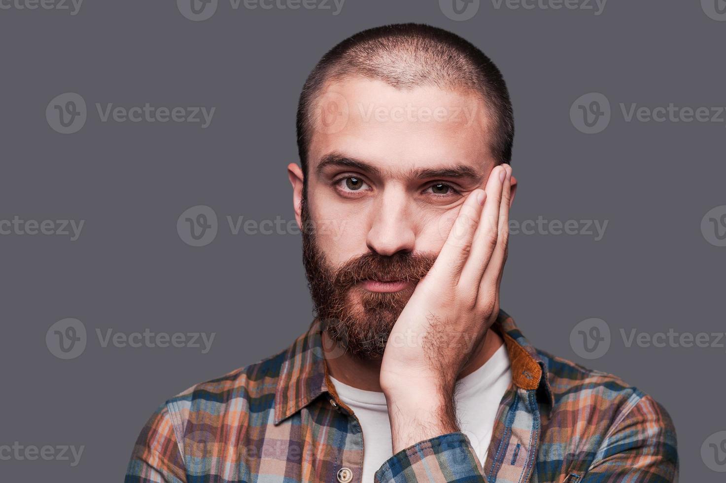
[(386, 189), (370, 214), (372, 220), (366, 238), (368, 248), (383, 256), (399, 251), (413, 251), (416, 235), (414, 217), (403, 190)]

